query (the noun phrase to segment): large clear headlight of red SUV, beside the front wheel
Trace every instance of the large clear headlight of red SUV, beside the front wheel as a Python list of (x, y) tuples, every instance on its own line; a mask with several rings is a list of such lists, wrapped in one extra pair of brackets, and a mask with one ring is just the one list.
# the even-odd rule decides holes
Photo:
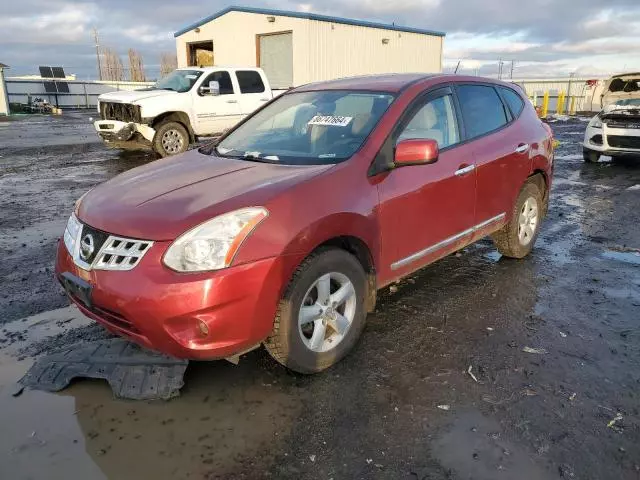
[(265, 208), (250, 207), (208, 220), (178, 237), (164, 254), (164, 264), (178, 272), (226, 268), (268, 214)]

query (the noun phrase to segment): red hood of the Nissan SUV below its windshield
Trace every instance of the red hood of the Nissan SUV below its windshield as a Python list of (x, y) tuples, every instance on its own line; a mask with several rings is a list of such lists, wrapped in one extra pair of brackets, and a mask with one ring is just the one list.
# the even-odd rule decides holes
[(191, 150), (98, 185), (82, 198), (76, 214), (92, 227), (115, 235), (174, 240), (216, 215), (267, 206), (286, 188), (331, 167), (273, 165)]

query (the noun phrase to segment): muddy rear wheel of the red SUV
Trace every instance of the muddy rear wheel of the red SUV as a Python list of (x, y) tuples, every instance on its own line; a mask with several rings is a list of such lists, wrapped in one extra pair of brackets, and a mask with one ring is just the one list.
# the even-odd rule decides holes
[(498, 251), (511, 258), (529, 255), (538, 238), (543, 211), (540, 188), (534, 182), (525, 183), (511, 212), (511, 221), (491, 236)]

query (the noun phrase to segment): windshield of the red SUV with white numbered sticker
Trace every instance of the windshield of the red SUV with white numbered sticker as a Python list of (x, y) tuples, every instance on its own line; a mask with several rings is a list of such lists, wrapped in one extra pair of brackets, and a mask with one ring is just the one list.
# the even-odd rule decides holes
[(284, 165), (338, 163), (360, 148), (393, 99), (357, 91), (285, 94), (222, 140), (215, 153)]

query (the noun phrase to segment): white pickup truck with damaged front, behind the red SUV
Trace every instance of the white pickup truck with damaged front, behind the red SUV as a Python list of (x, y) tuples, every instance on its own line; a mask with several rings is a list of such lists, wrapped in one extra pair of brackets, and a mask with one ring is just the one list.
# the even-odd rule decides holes
[(273, 98), (259, 68), (180, 68), (154, 86), (98, 97), (98, 135), (115, 148), (166, 157), (221, 134)]

